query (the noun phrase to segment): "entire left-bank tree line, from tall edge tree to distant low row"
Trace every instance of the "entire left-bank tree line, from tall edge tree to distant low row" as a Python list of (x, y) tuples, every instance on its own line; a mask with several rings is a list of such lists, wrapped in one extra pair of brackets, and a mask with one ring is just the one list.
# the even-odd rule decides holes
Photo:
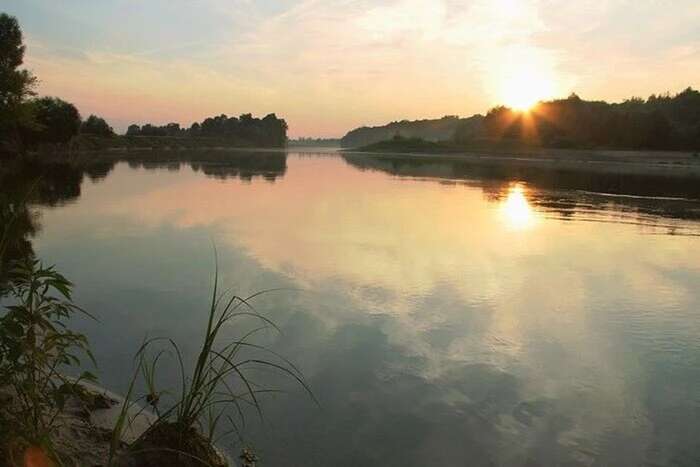
[[(23, 154), (47, 145), (65, 147), (78, 135), (116, 136), (107, 121), (97, 115), (83, 120), (70, 102), (37, 97), (37, 78), (22, 67), (25, 51), (17, 19), (0, 13), (0, 154)], [(262, 119), (251, 114), (219, 115), (189, 128), (181, 128), (178, 123), (131, 125), (127, 136), (204, 137), (231, 145), (279, 147), (287, 142), (287, 123), (275, 114)]]

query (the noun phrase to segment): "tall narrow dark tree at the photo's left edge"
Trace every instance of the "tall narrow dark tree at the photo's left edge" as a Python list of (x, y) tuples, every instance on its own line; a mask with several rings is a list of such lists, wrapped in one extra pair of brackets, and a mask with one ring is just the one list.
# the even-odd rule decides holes
[[(24, 63), (25, 46), (17, 18), (0, 14), (0, 143), (13, 141), (22, 151), (19, 126), (30, 124), (32, 115), (24, 105), (34, 95), (36, 78)], [(2, 146), (2, 144), (0, 144)], [(1, 148), (0, 148), (1, 149)]]

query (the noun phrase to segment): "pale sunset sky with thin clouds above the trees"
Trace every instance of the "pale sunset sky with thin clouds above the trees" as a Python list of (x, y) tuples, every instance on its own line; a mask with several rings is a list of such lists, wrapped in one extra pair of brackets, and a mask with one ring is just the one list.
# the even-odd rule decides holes
[(39, 93), (118, 131), (276, 113), (290, 137), (700, 87), (698, 0), (0, 0)]

